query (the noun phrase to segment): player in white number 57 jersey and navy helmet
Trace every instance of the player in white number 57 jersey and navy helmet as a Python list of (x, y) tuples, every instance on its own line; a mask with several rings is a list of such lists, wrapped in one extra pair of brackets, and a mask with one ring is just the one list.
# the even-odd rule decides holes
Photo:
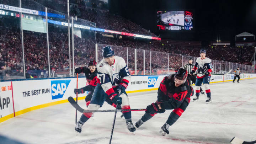
[[(97, 66), (98, 74), (94, 94), (88, 110), (98, 110), (109, 97), (116, 105), (121, 105), (122, 109), (130, 109), (129, 99), (126, 94), (126, 88), (131, 79), (128, 67), (123, 58), (115, 56), (110, 46), (102, 48), (103, 59)], [(118, 93), (121, 91), (120, 96)], [(79, 122), (76, 124), (75, 130), (81, 132), (82, 125), (91, 117), (92, 113), (84, 113)], [(136, 129), (132, 123), (131, 111), (123, 111), (126, 125), (130, 132)], [(112, 116), (112, 115), (110, 115)]]

